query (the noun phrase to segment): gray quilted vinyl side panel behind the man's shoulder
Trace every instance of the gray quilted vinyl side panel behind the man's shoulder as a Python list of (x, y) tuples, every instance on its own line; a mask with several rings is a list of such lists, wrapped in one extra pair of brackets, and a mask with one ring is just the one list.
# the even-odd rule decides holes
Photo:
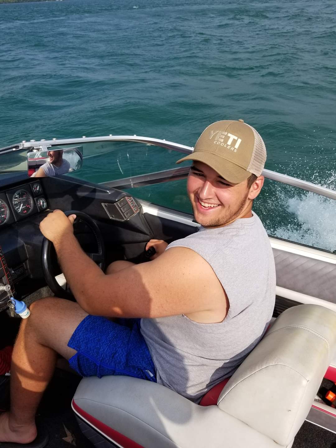
[(273, 255), (277, 286), (336, 303), (336, 264), (279, 249)]

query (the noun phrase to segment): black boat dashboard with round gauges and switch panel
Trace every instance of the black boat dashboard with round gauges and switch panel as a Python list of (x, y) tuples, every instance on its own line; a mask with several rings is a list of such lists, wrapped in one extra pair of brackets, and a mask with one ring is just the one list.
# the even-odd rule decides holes
[[(107, 263), (136, 260), (154, 237), (140, 204), (123, 191), (67, 176), (39, 180), (22, 174), (7, 177), (0, 184), (0, 284), (10, 284), (18, 298), (45, 284), (39, 224), (56, 209), (82, 211), (96, 221)], [(75, 234), (82, 248), (94, 251), (90, 248), (95, 244), (92, 231), (83, 222), (77, 224)], [(0, 291), (0, 310), (6, 308), (5, 298)]]

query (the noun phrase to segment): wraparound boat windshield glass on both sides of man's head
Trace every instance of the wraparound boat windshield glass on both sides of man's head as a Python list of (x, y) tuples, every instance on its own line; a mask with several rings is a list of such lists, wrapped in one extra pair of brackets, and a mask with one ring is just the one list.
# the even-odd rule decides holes
[[(78, 139), (75, 143), (82, 143), (82, 140)], [(66, 176), (105, 184), (147, 202), (191, 214), (186, 194), (186, 177), (190, 163), (182, 164), (183, 167), (176, 165), (176, 161), (184, 154), (172, 150), (168, 143), (168, 148), (133, 141), (82, 143), (80, 147), (83, 164), (80, 169), (68, 172)], [(66, 151), (73, 145), (74, 141), (69, 145), (53, 146), (52, 149)], [(30, 147), (30, 151), (31, 149)], [(27, 172), (27, 153), (27, 148), (0, 152), (0, 172)], [(38, 161), (43, 154), (47, 153), (37, 151), (31, 159)], [(181, 172), (183, 169), (184, 172)], [(168, 174), (164, 174), (167, 170)], [(159, 174), (152, 176), (151, 173), (155, 172)], [(177, 172), (181, 174), (177, 176)], [(253, 208), (270, 236), (335, 251), (334, 204), (331, 198), (266, 179)], [(316, 213), (311, 213), (312, 210)]]

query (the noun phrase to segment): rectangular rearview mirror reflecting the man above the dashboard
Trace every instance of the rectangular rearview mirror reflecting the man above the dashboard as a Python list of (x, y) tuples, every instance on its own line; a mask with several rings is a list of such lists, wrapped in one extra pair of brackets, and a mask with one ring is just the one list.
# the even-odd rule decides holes
[(82, 167), (83, 147), (51, 151), (35, 150), (27, 154), (28, 177), (60, 176)]

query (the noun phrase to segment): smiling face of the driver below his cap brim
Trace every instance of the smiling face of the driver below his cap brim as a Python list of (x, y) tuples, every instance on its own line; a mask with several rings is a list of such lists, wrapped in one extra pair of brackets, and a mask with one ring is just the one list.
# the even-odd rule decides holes
[(250, 208), (247, 180), (229, 184), (208, 165), (194, 162), (190, 168), (187, 192), (195, 220), (203, 227), (220, 227), (245, 216)]

